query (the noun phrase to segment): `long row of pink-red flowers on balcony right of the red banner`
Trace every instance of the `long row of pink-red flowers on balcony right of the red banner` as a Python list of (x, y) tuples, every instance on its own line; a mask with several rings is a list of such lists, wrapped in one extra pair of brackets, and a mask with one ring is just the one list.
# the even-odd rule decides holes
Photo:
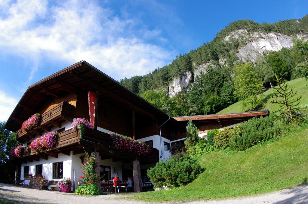
[(146, 156), (151, 152), (151, 147), (144, 142), (121, 134), (110, 133), (109, 135), (112, 138), (114, 147), (120, 149), (121, 152), (128, 151), (138, 156)]

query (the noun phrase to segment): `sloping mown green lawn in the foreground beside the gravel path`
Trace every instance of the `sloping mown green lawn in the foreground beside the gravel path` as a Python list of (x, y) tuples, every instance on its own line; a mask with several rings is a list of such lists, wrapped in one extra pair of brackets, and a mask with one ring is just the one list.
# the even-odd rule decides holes
[[(302, 84), (302, 79), (298, 82)], [(306, 88), (306, 87), (305, 87)], [(237, 153), (212, 152), (199, 158), (205, 171), (187, 186), (133, 194), (148, 201), (187, 201), (261, 194), (306, 183), (308, 126), (286, 133), (274, 142)]]

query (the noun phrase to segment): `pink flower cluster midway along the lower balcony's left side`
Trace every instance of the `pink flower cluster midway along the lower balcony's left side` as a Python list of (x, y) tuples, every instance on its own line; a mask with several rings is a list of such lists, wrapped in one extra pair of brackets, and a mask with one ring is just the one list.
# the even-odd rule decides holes
[(30, 147), (32, 150), (35, 150), (38, 152), (51, 149), (52, 147), (56, 145), (56, 136), (58, 136), (57, 132), (46, 133), (43, 136), (32, 140)]

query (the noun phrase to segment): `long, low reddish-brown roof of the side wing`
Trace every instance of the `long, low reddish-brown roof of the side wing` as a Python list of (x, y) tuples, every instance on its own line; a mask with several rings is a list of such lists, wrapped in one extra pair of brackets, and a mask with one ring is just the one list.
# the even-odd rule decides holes
[(212, 114), (212, 115), (193, 115), (193, 116), (183, 116), (183, 117), (173, 117), (176, 121), (188, 121), (189, 118), (192, 120), (217, 120), (217, 119), (226, 119), (226, 118), (251, 118), (266, 116), (270, 114), (269, 110), (257, 110), (241, 113), (226, 113), (226, 114)]

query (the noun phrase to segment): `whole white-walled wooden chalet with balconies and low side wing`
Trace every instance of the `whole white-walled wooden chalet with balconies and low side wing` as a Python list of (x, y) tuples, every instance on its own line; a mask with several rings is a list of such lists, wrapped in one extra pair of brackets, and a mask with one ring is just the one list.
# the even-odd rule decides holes
[[(75, 118), (90, 119), (88, 91), (96, 93), (94, 129), (86, 129), (82, 139), (71, 128)], [(40, 113), (40, 126), (25, 132), (22, 123)], [(146, 170), (170, 156), (170, 148), (179, 146), (186, 138), (186, 125), (191, 118), (200, 136), (208, 130), (232, 127), (253, 117), (268, 115), (269, 111), (234, 114), (170, 117), (137, 94), (128, 90), (85, 61), (69, 66), (29, 86), (5, 128), (17, 133), (24, 144), (22, 158), (14, 159), (18, 166), (17, 179), (26, 173), (43, 174), (47, 180), (72, 178), (77, 187), (84, 151), (97, 152), (100, 174), (110, 179), (118, 174), (121, 180), (134, 178), (135, 190), (151, 186)], [(57, 131), (56, 146), (38, 153), (30, 142), (47, 132)], [(135, 156), (113, 147), (109, 133), (116, 132), (148, 143), (148, 156)]]

